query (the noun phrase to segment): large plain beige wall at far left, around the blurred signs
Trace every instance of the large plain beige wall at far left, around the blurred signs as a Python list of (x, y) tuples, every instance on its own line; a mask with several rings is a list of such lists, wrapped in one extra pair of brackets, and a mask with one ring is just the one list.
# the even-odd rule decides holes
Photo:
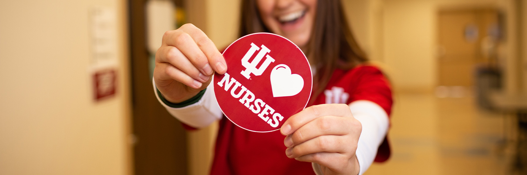
[[(0, 174), (130, 174), (124, 0), (0, 2)], [(117, 14), (118, 92), (92, 100), (90, 7)]]

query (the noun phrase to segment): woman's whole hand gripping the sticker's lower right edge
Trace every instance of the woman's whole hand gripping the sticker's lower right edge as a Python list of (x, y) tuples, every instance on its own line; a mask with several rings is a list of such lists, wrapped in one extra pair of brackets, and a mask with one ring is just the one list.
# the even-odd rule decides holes
[(286, 156), (320, 164), (324, 174), (358, 174), (355, 151), (362, 125), (346, 104), (308, 107), (284, 122)]

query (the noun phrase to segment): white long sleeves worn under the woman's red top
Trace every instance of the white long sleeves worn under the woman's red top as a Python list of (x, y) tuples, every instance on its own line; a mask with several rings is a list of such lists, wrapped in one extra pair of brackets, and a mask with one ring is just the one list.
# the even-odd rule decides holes
[[(203, 128), (209, 126), (212, 122), (223, 117), (223, 113), (218, 105), (212, 84), (205, 90), (201, 99), (195, 104), (182, 107), (170, 107), (159, 98), (159, 94), (154, 86), (155, 96), (158, 98), (168, 112), (187, 125), (194, 128)], [(363, 174), (373, 163), (377, 155), (377, 149), (384, 140), (388, 131), (388, 115), (382, 107), (375, 102), (367, 100), (357, 100), (349, 104), (353, 117), (362, 124), (362, 132), (357, 143), (356, 156), (359, 163), (359, 175)], [(316, 174), (321, 175), (320, 166), (313, 163), (313, 170)]]

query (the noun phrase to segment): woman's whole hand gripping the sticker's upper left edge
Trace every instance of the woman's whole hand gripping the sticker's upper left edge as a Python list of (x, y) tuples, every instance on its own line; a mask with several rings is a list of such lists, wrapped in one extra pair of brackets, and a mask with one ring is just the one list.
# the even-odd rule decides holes
[(165, 99), (179, 103), (196, 96), (214, 71), (225, 74), (225, 58), (198, 27), (185, 24), (164, 33), (155, 53), (154, 82)]

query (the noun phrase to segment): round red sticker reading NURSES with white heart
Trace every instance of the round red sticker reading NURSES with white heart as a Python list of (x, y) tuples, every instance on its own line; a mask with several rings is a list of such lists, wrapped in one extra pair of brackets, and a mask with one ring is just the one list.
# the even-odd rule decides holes
[(280, 129), (304, 109), (311, 95), (311, 67), (290, 40), (270, 33), (243, 36), (223, 57), (227, 73), (214, 75), (214, 94), (223, 114), (254, 132)]

